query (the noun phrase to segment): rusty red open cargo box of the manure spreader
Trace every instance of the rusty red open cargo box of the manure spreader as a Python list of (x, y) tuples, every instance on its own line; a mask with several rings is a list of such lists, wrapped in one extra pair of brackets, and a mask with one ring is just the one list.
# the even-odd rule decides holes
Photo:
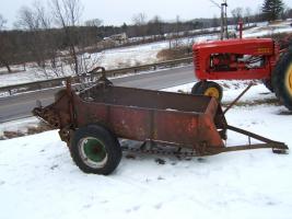
[(74, 97), (79, 127), (97, 123), (120, 138), (188, 148), (224, 146), (218, 129), (225, 119), (211, 97), (98, 85), (81, 95), (86, 96), (94, 99)]

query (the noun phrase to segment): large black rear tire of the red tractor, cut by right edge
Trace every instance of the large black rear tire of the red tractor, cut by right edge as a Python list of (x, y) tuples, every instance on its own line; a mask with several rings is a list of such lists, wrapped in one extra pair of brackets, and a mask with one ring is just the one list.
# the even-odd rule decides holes
[(292, 84), (289, 85), (287, 80), (289, 80), (289, 76), (291, 77), (291, 68), (292, 50), (290, 49), (281, 57), (271, 77), (272, 88), (275, 90), (276, 96), (287, 108), (289, 108), (289, 111), (292, 111)]

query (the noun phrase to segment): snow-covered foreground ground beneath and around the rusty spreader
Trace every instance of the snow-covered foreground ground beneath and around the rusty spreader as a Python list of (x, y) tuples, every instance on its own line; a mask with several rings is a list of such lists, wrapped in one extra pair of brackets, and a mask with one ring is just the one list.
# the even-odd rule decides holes
[[(224, 83), (224, 100), (246, 84)], [(189, 92), (192, 84), (168, 91)], [(292, 114), (278, 104), (254, 104), (273, 95), (253, 87), (226, 114), (229, 124), (292, 147)], [(227, 145), (247, 143), (229, 132)], [(133, 153), (135, 154), (135, 153)], [(159, 164), (160, 158), (165, 164)], [(292, 154), (269, 149), (201, 159), (124, 154), (109, 176), (82, 173), (56, 130), (0, 141), (1, 218), (292, 218)]]

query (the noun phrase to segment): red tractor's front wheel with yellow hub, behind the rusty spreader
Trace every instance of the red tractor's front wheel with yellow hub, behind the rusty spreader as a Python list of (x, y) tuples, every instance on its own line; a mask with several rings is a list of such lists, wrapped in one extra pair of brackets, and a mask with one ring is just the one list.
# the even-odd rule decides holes
[(192, 87), (191, 94), (213, 96), (220, 102), (223, 96), (223, 89), (213, 81), (200, 81)]

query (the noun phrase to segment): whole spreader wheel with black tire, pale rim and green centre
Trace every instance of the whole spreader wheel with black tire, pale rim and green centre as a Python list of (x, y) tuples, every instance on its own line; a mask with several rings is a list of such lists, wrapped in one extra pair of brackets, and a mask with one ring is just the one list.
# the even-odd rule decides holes
[(118, 140), (97, 125), (78, 129), (70, 142), (70, 152), (80, 170), (102, 175), (110, 174), (121, 159)]

